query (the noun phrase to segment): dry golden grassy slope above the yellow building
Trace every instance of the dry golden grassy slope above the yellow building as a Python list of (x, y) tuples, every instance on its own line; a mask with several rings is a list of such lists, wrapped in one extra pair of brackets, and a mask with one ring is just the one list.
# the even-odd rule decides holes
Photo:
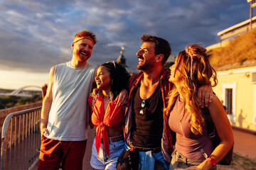
[(256, 30), (233, 38), (225, 47), (213, 49), (209, 60), (216, 70), (256, 65)]

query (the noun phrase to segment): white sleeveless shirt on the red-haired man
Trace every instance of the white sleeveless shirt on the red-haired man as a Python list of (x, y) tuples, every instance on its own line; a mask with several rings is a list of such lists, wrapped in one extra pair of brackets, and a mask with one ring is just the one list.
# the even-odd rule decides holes
[(87, 98), (92, 89), (95, 66), (74, 68), (70, 62), (55, 67), (53, 102), (50, 108), (47, 130), (44, 134), (53, 140), (87, 140), (89, 110)]

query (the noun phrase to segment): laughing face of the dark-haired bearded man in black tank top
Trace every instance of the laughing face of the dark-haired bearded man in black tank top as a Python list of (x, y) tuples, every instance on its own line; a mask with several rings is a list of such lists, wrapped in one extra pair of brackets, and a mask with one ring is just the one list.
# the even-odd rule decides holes
[(142, 71), (147, 71), (154, 68), (155, 64), (155, 44), (154, 42), (144, 42), (137, 52), (137, 57), (139, 59), (137, 69)]

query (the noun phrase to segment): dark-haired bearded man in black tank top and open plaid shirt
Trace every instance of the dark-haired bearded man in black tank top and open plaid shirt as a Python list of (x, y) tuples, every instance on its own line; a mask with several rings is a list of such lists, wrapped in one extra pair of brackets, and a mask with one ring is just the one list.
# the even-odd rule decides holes
[[(170, 72), (163, 65), (171, 55), (171, 45), (154, 35), (144, 34), (141, 40), (142, 46), (137, 52), (137, 69), (141, 72), (129, 79), (124, 147), (138, 150), (139, 170), (169, 169), (169, 155), (176, 139), (166, 121), (164, 108), (174, 84), (169, 82)], [(213, 100), (212, 88), (201, 86), (198, 99), (202, 106), (208, 106)]]

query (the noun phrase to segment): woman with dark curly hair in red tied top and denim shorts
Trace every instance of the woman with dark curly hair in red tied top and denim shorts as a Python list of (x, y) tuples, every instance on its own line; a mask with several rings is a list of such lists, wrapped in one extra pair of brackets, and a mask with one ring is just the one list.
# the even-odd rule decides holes
[(96, 127), (90, 160), (93, 169), (116, 169), (117, 158), (124, 150), (124, 112), (114, 98), (122, 89), (127, 89), (128, 81), (127, 70), (117, 63), (107, 62), (97, 69), (95, 82), (101, 92), (96, 101), (92, 97), (88, 99), (90, 126)]

